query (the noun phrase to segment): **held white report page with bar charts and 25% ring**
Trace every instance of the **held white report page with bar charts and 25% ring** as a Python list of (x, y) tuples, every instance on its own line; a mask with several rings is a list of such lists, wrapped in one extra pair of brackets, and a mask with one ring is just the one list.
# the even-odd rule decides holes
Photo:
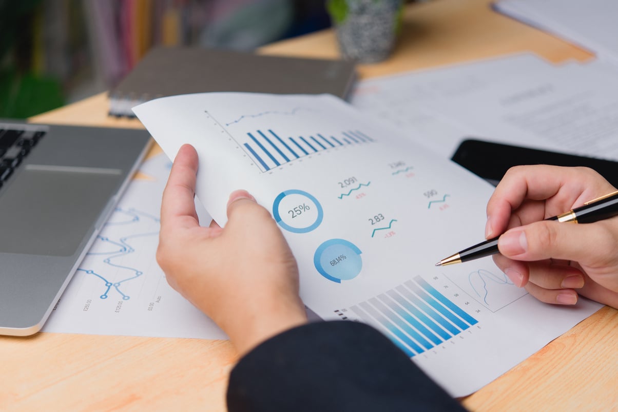
[(375, 326), (453, 396), (601, 307), (540, 303), (491, 258), (434, 266), (483, 240), (493, 187), (336, 97), (189, 94), (133, 110), (169, 157), (195, 147), (197, 196), (219, 225), (235, 189), (271, 212), (305, 305)]

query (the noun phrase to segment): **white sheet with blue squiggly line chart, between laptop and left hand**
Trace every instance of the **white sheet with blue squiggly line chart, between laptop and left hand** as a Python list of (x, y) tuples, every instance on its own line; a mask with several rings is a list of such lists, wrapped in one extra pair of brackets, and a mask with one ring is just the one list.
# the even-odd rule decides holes
[[(155, 260), (171, 162), (146, 160), (78, 266), (44, 332), (227, 339), (165, 279)], [(196, 204), (201, 221), (210, 221)]]

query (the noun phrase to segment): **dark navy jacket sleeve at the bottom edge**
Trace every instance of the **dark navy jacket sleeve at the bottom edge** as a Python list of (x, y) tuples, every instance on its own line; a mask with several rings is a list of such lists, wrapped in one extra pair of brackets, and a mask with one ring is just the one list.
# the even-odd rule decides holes
[(362, 323), (310, 323), (258, 345), (232, 369), (237, 411), (463, 411), (383, 334)]

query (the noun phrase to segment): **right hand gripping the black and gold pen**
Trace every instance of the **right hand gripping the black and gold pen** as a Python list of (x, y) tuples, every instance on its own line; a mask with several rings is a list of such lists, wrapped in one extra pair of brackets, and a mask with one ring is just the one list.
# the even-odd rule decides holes
[(486, 238), (509, 229), (494, 262), (542, 302), (574, 305), (583, 295), (618, 308), (618, 217), (581, 225), (543, 221), (613, 191), (589, 168), (511, 168), (487, 205)]

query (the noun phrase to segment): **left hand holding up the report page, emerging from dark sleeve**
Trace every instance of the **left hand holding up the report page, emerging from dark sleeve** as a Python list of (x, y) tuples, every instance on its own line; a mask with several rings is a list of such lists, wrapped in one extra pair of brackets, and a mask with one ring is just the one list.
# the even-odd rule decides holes
[(157, 262), (167, 282), (223, 329), (240, 353), (307, 322), (292, 251), (268, 211), (246, 191), (227, 204), (227, 225), (200, 226), (197, 152), (180, 147), (163, 192)]

